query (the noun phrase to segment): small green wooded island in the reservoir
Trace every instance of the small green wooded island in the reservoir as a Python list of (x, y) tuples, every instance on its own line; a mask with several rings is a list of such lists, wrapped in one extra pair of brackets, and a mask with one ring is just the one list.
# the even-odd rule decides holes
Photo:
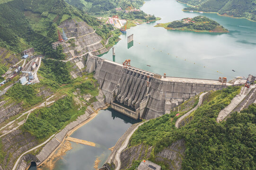
[(168, 30), (194, 31), (194, 32), (209, 32), (209, 33), (229, 33), (229, 31), (221, 26), (216, 21), (203, 16), (194, 18), (183, 18), (165, 24), (158, 24), (155, 27), (164, 27)]

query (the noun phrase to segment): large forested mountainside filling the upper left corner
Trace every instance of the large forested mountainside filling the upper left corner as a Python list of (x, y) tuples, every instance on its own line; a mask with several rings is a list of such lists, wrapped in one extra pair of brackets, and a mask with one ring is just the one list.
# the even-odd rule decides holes
[(56, 56), (51, 43), (57, 41), (57, 26), (73, 18), (98, 26), (99, 21), (83, 14), (64, 0), (12, 0), (0, 4), (0, 46), (14, 52), (28, 47)]

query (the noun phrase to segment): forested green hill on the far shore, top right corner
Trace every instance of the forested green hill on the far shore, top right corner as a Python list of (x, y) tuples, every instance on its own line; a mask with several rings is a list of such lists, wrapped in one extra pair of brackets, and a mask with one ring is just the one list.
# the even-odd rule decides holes
[(217, 12), (221, 15), (256, 20), (256, 0), (179, 0), (192, 5), (185, 10)]

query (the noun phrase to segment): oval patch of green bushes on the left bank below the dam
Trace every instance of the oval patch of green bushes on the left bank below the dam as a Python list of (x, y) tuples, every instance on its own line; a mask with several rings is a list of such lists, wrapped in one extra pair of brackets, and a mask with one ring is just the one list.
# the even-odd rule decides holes
[(65, 123), (71, 119), (70, 111), (74, 104), (72, 97), (65, 97), (51, 107), (45, 107), (34, 111), (29, 115), (24, 129), (37, 138), (49, 137), (57, 130), (63, 128)]

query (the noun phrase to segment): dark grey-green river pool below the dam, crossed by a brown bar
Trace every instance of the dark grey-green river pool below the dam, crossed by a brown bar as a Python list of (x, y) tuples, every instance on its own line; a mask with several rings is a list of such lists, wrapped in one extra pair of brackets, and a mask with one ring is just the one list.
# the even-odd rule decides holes
[[(112, 109), (100, 110), (90, 122), (76, 130), (71, 137), (96, 143), (96, 147), (71, 142), (72, 149), (55, 163), (54, 170), (94, 170), (95, 160), (102, 167), (118, 139), (134, 123), (122, 113)], [(42, 170), (49, 170), (42, 167)]]

